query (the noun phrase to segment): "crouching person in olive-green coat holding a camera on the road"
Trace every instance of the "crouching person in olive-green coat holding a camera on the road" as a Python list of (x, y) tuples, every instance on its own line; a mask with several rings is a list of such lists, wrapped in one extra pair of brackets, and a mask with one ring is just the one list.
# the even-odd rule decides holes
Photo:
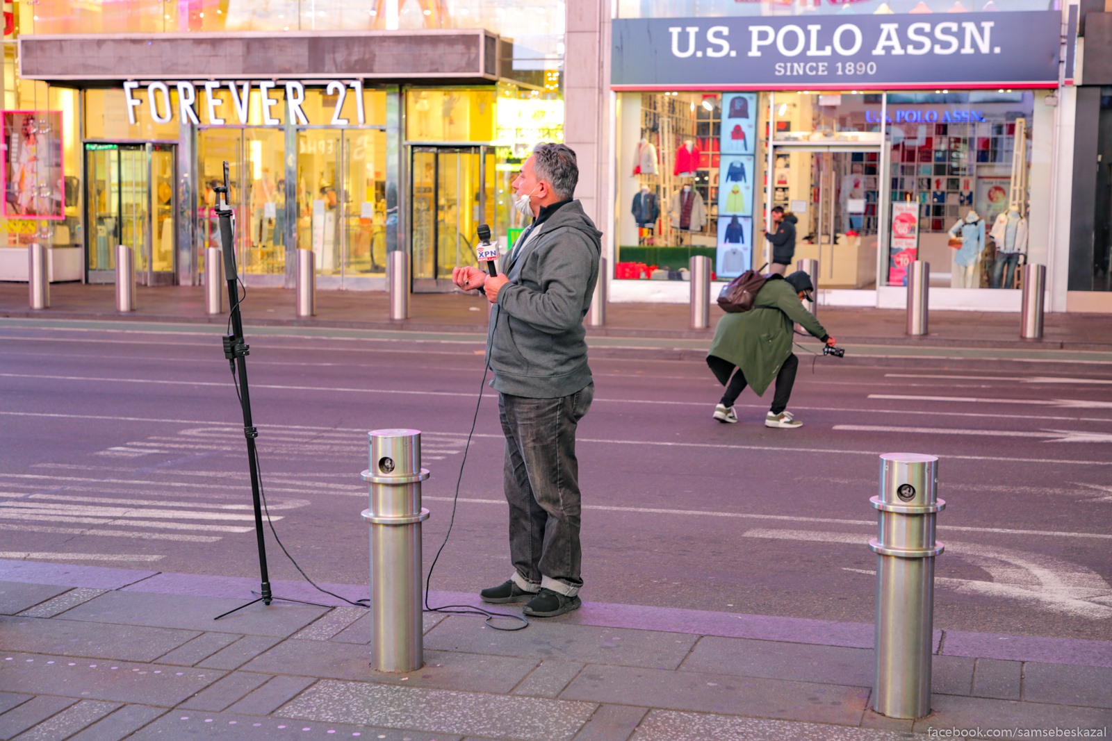
[(803, 308), (803, 299), (814, 300), (813, 290), (811, 277), (802, 270), (787, 278), (773, 276), (757, 291), (752, 309), (726, 313), (718, 320), (706, 364), (726, 391), (714, 408), (714, 419), (726, 424), (737, 422), (734, 402), (745, 387), (752, 387), (759, 397), (776, 379), (776, 392), (765, 414), (765, 427), (783, 430), (803, 427), (803, 422), (787, 411), (795, 370), (800, 366), (792, 352), (793, 323), (798, 322), (831, 347), (835, 343), (814, 314)]

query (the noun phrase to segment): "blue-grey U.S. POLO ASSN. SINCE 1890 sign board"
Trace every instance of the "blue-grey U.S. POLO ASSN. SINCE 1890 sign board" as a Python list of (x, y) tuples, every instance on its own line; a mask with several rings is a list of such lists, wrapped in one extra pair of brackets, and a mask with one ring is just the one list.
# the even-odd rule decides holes
[(612, 87), (1056, 87), (1058, 11), (615, 20)]

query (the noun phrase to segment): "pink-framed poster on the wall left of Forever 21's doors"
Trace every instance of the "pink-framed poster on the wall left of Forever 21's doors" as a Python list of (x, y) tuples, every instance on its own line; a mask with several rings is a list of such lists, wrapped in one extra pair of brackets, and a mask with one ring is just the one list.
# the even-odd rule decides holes
[(3, 111), (0, 126), (4, 217), (66, 218), (61, 112)]

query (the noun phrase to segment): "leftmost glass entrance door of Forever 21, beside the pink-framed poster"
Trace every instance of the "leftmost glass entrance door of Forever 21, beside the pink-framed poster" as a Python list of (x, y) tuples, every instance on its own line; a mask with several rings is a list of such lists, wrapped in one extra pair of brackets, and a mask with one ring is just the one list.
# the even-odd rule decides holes
[(173, 144), (86, 143), (89, 282), (115, 282), (118, 244), (135, 252), (140, 286), (175, 282), (175, 149)]

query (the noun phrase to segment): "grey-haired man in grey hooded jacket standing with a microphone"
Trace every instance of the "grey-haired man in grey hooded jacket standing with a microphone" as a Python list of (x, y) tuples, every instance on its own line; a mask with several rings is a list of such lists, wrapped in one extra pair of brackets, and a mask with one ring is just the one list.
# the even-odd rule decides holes
[(598, 281), (602, 232), (573, 200), (578, 179), (572, 149), (537, 144), (513, 183), (514, 207), (533, 222), (502, 270), (451, 271), (456, 286), (480, 289), (494, 304), (486, 362), (506, 435), (514, 572), (479, 595), (525, 602), (525, 614), (536, 618), (578, 609), (583, 585), (575, 429), (595, 394), (583, 318)]

